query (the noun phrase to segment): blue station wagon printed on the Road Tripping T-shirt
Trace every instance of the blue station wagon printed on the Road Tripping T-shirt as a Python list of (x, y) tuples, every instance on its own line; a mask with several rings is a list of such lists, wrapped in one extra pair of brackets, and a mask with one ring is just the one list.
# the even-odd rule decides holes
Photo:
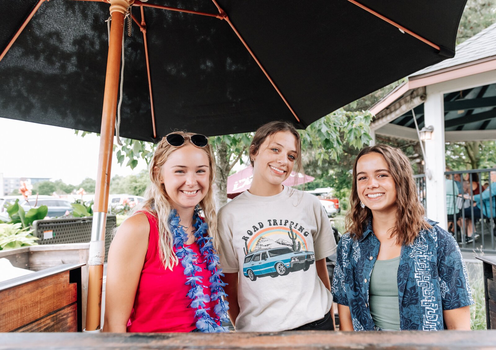
[(291, 271), (307, 271), (315, 262), (312, 251), (293, 251), (288, 247), (258, 249), (245, 256), (243, 275), (251, 281), (257, 277), (286, 276)]

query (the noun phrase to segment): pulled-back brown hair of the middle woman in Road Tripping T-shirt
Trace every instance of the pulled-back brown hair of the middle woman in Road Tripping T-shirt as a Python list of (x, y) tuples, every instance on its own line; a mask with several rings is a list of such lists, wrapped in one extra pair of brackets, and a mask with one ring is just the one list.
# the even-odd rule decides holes
[[(286, 120), (270, 121), (256, 129), (255, 135), (253, 136), (251, 144), (249, 145), (249, 162), (251, 166), (253, 167), (251, 156), (258, 154), (260, 146), (265, 141), (265, 139), (277, 132), (290, 132), (295, 136), (297, 157), (295, 160), (295, 167), (293, 168), (293, 171), (296, 173), (305, 174), (302, 163), (302, 140), (300, 138), (300, 134), (298, 133), (296, 127)], [(296, 181), (297, 177), (295, 176), (295, 183)]]

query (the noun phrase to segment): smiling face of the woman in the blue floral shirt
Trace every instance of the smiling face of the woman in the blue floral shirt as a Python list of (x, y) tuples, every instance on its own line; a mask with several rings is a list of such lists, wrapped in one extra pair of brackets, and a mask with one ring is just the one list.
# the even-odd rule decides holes
[(396, 185), (384, 157), (376, 152), (357, 162), (358, 197), (372, 214), (396, 210)]

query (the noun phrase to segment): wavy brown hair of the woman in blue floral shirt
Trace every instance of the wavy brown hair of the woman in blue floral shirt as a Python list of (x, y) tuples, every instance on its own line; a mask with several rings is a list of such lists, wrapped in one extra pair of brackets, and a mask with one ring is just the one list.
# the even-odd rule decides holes
[(386, 144), (365, 147), (360, 151), (353, 165), (353, 182), (350, 195), (350, 210), (346, 214), (346, 232), (354, 239), (360, 239), (372, 220), (372, 211), (360, 206), (357, 190), (357, 163), (360, 157), (369, 153), (378, 153), (387, 163), (396, 187), (396, 225), (391, 237), (396, 236), (398, 244), (412, 244), (421, 230), (431, 229), (424, 219), (425, 210), (419, 201), (417, 186), (413, 178), (413, 170), (408, 157), (398, 148)]

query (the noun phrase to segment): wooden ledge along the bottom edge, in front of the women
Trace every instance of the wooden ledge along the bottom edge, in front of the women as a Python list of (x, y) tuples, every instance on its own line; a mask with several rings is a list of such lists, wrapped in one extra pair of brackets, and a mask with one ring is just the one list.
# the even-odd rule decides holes
[(495, 349), (494, 331), (282, 333), (1, 333), (16, 349)]

